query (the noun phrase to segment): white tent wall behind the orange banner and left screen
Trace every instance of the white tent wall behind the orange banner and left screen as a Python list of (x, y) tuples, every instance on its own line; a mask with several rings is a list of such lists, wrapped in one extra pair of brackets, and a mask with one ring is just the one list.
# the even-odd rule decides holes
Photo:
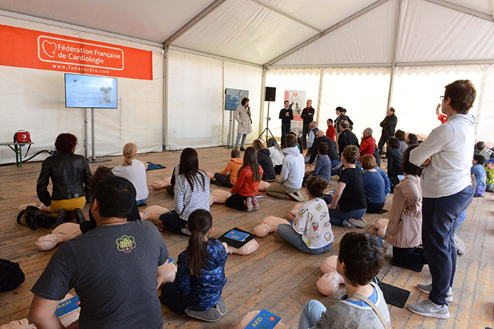
[[(161, 49), (56, 25), (0, 16), (0, 24), (52, 32), (152, 51), (153, 80), (118, 78), (119, 108), (95, 109), (95, 149), (97, 156), (120, 154), (126, 142), (135, 142), (140, 152), (162, 149), (163, 57)], [(56, 23), (54, 23), (56, 24)], [(29, 154), (54, 149), (61, 132), (78, 137), (76, 153), (83, 154), (83, 110), (65, 107), (64, 72), (0, 66), (2, 118), (0, 140), (12, 140), (16, 130), (28, 130), (32, 145)], [(90, 118), (88, 111), (88, 120)], [(90, 125), (88, 125), (90, 129)], [(90, 132), (88, 134), (90, 141)], [(91, 144), (88, 143), (90, 155)], [(40, 154), (35, 159), (42, 160)], [(13, 151), (0, 149), (0, 163), (12, 163)]]

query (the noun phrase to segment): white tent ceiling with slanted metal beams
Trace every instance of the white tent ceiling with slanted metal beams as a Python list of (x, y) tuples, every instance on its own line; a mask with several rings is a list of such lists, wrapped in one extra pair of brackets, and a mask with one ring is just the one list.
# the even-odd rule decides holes
[[(40, 6), (36, 0), (1, 0), (0, 14), (29, 15), (269, 67), (390, 66), (400, 3), (44, 0)], [(397, 63), (494, 62), (491, 0), (402, 3)]]

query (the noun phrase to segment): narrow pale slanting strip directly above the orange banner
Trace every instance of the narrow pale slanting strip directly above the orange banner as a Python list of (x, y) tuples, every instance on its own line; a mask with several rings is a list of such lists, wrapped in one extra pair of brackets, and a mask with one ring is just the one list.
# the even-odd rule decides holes
[(119, 35), (117, 33), (107, 32), (107, 31), (103, 31), (103, 30), (97, 30), (97, 29), (93, 29), (91, 27), (85, 27), (85, 26), (81, 26), (81, 25), (64, 23), (64, 22), (60, 22), (59, 20), (48, 20), (46, 18), (40, 18), (40, 17), (36, 17), (36, 16), (25, 15), (23, 13), (14, 13), (13, 11), (1, 11), (1, 10), (0, 10), (0, 16), (17, 18), (20, 20), (27, 20), (28, 22), (41, 23), (41, 24), (52, 25), (52, 26), (56, 26), (56, 27), (64, 27), (64, 28), (67, 28), (70, 30), (92, 33), (93, 35), (101, 35), (102, 37), (111, 37), (113, 39), (121, 39), (124, 41), (137, 42), (139, 44), (146, 44), (148, 46), (157, 46), (159, 48), (163, 48), (163, 44), (161, 44), (159, 42), (153, 42), (150, 40), (139, 39), (136, 37), (130, 37), (128, 35)]

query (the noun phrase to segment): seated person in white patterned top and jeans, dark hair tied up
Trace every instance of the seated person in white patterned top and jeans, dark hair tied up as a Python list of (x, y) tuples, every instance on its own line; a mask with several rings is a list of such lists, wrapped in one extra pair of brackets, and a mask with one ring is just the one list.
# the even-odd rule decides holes
[(309, 201), (300, 206), (292, 225), (278, 225), (275, 239), (281, 237), (282, 242), (289, 242), (308, 254), (321, 254), (331, 248), (334, 235), (330, 216), (325, 201), (320, 199), (326, 187), (327, 181), (322, 178), (308, 179), (306, 193)]

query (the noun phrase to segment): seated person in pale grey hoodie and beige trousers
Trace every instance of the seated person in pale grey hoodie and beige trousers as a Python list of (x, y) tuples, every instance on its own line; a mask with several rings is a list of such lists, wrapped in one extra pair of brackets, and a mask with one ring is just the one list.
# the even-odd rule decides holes
[(266, 193), (279, 199), (304, 201), (299, 190), (302, 187), (306, 164), (297, 148), (295, 135), (287, 134), (286, 144), (287, 147), (283, 150), (285, 156), (283, 158), (282, 173), (275, 183), (267, 187)]

